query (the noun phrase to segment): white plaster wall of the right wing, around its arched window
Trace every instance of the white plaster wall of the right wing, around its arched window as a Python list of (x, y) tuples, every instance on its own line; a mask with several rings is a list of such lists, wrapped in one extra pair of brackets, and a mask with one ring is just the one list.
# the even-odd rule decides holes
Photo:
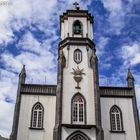
[[(122, 111), (123, 126), (125, 133), (110, 133), (109, 111), (113, 105), (117, 105)], [(101, 98), (102, 126), (104, 140), (136, 140), (135, 123), (130, 98)]]

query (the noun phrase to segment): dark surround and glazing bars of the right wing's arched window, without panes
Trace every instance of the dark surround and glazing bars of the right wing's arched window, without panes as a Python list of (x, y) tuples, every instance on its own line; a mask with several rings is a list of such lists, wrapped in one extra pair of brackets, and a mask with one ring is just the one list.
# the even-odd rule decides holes
[[(118, 110), (118, 113), (117, 112), (116, 113), (112, 112), (114, 110), (114, 108)], [(114, 118), (115, 118), (115, 120), (114, 120), (115, 129), (113, 128), (112, 114), (114, 114)], [(119, 115), (119, 119), (117, 119), (118, 115)], [(119, 120), (120, 129), (118, 129), (118, 120)], [(117, 105), (113, 105), (110, 108), (110, 128), (111, 128), (111, 132), (116, 132), (116, 133), (124, 132), (122, 111)]]

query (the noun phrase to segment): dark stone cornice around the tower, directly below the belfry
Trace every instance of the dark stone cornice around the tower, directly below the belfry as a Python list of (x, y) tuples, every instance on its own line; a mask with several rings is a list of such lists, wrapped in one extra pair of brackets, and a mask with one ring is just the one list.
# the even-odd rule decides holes
[(89, 38), (81, 38), (81, 37), (67, 37), (59, 43), (59, 49), (63, 49), (69, 45), (85, 45), (89, 46), (91, 49), (95, 48), (95, 44)]

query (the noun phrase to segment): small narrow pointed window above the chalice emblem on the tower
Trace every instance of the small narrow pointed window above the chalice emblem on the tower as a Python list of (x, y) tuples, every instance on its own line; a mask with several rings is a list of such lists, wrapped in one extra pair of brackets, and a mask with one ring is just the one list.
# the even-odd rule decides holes
[(77, 63), (77, 64), (79, 64), (79, 63), (81, 63), (82, 62), (82, 51), (81, 50), (79, 50), (79, 49), (76, 49), (75, 51), (74, 51), (74, 61)]

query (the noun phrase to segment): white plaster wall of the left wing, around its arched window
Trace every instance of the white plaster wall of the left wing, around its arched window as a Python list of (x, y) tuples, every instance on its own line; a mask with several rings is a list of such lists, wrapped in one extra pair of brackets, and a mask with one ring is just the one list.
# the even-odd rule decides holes
[[(44, 107), (44, 130), (29, 129), (32, 107), (36, 102)], [(55, 125), (55, 96), (22, 95), (17, 140), (52, 140)]]

